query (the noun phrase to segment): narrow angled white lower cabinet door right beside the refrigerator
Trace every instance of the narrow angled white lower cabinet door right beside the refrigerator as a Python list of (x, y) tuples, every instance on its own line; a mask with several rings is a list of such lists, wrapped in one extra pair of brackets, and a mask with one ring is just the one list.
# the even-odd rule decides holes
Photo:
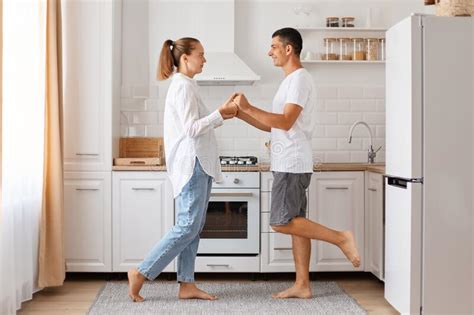
[(383, 175), (366, 172), (366, 264), (365, 270), (383, 280), (384, 192)]

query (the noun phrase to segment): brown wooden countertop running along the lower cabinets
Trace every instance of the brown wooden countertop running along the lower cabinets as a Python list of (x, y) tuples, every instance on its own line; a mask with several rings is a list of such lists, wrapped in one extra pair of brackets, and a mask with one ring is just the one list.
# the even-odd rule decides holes
[[(166, 166), (113, 166), (113, 171), (158, 171), (165, 172)], [(269, 172), (269, 164), (256, 166), (223, 166), (224, 172)], [(319, 163), (314, 166), (315, 172), (369, 171), (385, 173), (385, 163)]]

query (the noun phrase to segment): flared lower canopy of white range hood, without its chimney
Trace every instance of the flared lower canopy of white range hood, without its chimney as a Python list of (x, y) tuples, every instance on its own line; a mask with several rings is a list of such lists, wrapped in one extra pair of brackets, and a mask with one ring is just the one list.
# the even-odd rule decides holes
[(206, 52), (202, 73), (195, 76), (199, 85), (252, 85), (260, 80), (234, 52)]

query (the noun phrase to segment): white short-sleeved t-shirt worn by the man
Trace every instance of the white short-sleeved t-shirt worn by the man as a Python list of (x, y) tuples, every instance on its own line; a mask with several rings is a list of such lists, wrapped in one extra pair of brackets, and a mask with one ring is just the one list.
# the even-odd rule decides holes
[(313, 79), (304, 68), (293, 71), (280, 84), (278, 92), (273, 98), (273, 113), (283, 114), (283, 109), (288, 103), (296, 104), (303, 109), (290, 130), (272, 128), (272, 171), (284, 173), (313, 172), (311, 150), (313, 91)]

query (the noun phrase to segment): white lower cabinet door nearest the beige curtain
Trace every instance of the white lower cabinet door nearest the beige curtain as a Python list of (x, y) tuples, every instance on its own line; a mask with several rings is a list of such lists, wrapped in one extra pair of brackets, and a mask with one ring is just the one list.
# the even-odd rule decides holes
[(64, 174), (66, 271), (112, 271), (110, 172)]

